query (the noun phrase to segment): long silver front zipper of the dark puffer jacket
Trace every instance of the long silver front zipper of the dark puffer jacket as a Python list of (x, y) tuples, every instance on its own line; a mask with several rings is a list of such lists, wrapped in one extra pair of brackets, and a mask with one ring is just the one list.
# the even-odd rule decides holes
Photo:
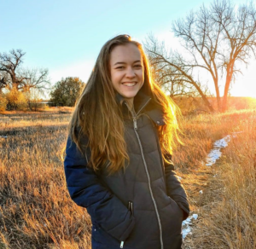
[[(148, 100), (150, 101), (150, 99)], [(148, 101), (143, 105), (143, 107), (145, 107), (147, 104), (148, 104)], [(125, 102), (126, 104), (126, 102)], [(127, 105), (127, 104), (126, 104)], [(127, 106), (128, 107), (128, 106)], [(143, 109), (143, 107), (138, 111), (138, 113)], [(129, 107), (128, 107), (129, 109)], [(137, 113), (137, 114), (138, 114)], [(162, 235), (162, 226), (161, 226), (161, 222), (160, 222), (160, 215), (159, 215), (159, 212), (158, 212), (158, 209), (157, 209), (157, 206), (156, 206), (156, 202), (154, 200), (154, 195), (153, 195), (153, 191), (152, 191), (152, 188), (151, 188), (151, 183), (150, 183), (150, 176), (149, 176), (149, 173), (148, 173), (148, 165), (146, 163), (146, 160), (144, 158), (144, 153), (143, 153), (143, 146), (142, 146), (142, 143), (140, 141), (140, 137), (137, 133), (137, 115), (136, 113), (134, 112), (131, 112), (132, 114), (132, 119), (133, 119), (133, 128), (134, 128), (134, 131), (135, 131), (135, 134), (137, 136), (137, 141), (139, 143), (139, 147), (141, 149), (141, 153), (142, 153), (142, 157), (143, 157), (143, 164), (144, 164), (144, 167), (145, 167), (145, 171), (146, 171), (146, 174), (147, 174), (147, 177), (148, 177), (148, 188), (149, 188), (149, 192), (150, 192), (150, 195), (151, 195), (151, 199), (154, 203), (154, 211), (156, 213), (156, 217), (157, 217), (157, 220), (158, 220), (158, 224), (159, 224), (159, 228), (160, 228), (160, 244), (161, 244), (161, 249), (164, 249), (164, 244), (163, 244), (163, 235)], [(123, 241), (122, 241), (123, 242)], [(124, 246), (124, 244), (122, 244), (121, 242), (121, 246)], [(120, 248), (123, 248), (123, 247), (120, 247)]]

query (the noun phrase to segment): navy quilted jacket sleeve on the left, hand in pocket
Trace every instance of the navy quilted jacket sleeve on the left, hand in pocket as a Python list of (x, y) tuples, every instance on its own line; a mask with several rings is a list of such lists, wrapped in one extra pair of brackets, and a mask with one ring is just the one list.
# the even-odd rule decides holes
[(135, 218), (108, 187), (103, 186), (95, 171), (87, 167), (87, 159), (90, 159), (90, 149), (84, 156), (68, 136), (64, 160), (68, 192), (77, 205), (87, 209), (92, 223), (124, 241), (135, 225)]

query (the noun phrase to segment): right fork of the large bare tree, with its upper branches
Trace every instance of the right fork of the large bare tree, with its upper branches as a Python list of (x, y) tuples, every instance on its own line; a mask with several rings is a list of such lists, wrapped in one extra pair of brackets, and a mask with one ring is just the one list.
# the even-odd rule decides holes
[(236, 73), (241, 72), (238, 66), (241, 63), (247, 65), (252, 55), (256, 57), (256, 9), (253, 2), (241, 5), (237, 11), (230, 2), (214, 3), (212, 20), (222, 30), (222, 51), (218, 55), (225, 74), (222, 103), (224, 112), (227, 108), (230, 83), (236, 78)]

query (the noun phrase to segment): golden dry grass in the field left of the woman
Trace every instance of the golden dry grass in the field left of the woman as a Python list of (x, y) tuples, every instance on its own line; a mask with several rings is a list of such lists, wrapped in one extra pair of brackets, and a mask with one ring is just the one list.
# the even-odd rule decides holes
[(2, 127), (7, 138), (0, 140), (0, 248), (90, 247), (90, 219), (67, 193), (62, 121)]

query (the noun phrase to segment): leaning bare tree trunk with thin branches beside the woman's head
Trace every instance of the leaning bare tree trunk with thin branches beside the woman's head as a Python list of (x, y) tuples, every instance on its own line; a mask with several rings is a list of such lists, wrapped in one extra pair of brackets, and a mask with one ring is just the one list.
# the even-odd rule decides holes
[(159, 43), (152, 35), (148, 36), (144, 45), (153, 67), (154, 78), (164, 89), (169, 88), (170, 96), (201, 96), (205, 105), (213, 112), (207, 99), (207, 86), (203, 86), (200, 79), (193, 77), (194, 67), (184, 65), (182, 55), (172, 51), (168, 53), (165, 43)]

